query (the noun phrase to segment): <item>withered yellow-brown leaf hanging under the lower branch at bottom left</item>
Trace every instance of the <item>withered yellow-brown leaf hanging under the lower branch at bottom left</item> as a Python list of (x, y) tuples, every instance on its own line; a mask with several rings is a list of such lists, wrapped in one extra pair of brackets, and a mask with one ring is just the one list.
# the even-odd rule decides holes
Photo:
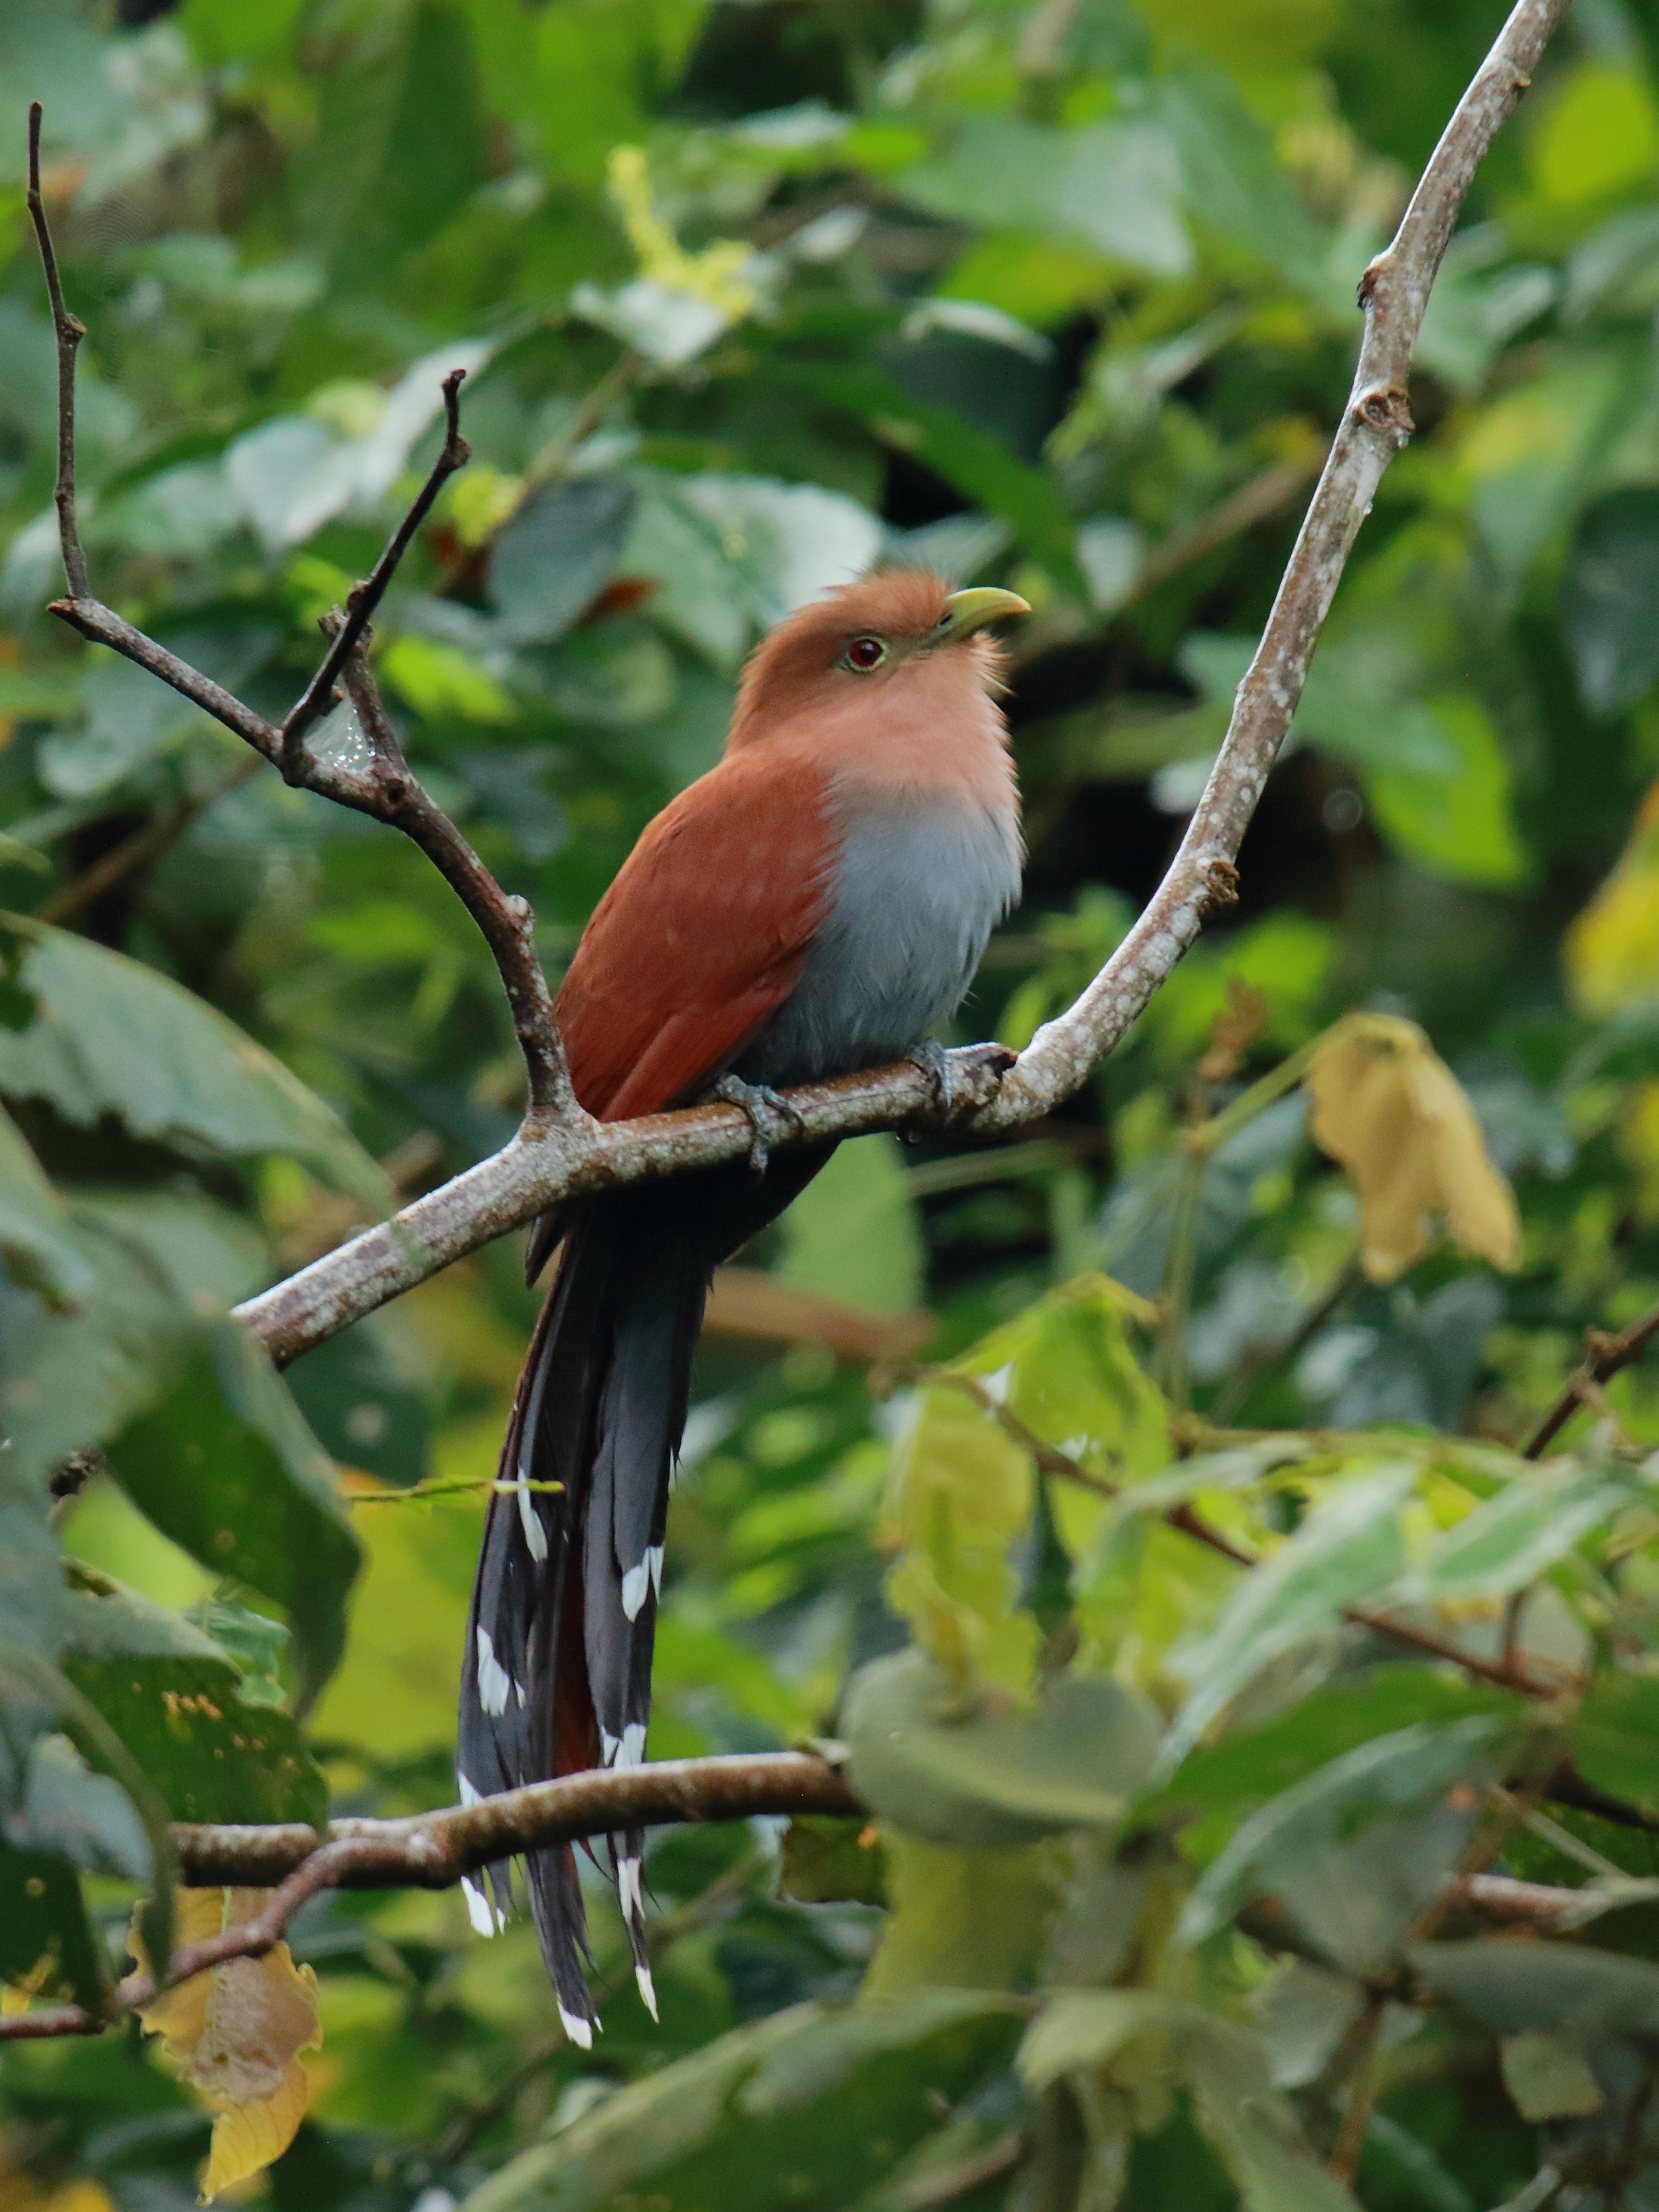
[[(179, 1942), (241, 1927), (268, 1896), (265, 1889), (181, 1889)], [(131, 1947), (144, 1958), (137, 1936)], [(294, 1966), (285, 1942), (263, 1958), (232, 1958), (192, 1975), (144, 2006), (139, 2020), (161, 2037), (164, 2064), (217, 2115), (204, 2203), (288, 2150), (310, 2095), (299, 2057), (319, 2048), (323, 2028), (316, 1973)]]

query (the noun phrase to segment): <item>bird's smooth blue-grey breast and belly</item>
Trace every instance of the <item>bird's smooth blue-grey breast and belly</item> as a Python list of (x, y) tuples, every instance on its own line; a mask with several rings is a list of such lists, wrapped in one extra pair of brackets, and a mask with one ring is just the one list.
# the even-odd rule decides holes
[(801, 982), (737, 1073), (807, 1084), (900, 1060), (962, 1004), (1018, 898), (1013, 823), (980, 807), (854, 816)]

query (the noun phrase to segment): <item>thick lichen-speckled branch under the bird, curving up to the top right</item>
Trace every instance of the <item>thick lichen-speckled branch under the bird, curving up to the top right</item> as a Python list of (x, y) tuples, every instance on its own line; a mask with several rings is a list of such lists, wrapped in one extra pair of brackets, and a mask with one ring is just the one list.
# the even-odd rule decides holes
[[(1239, 686), (1208, 790), (1168, 876), (1095, 982), (1037, 1031), (1000, 1084), (956, 1055), (964, 1128), (1015, 1128), (1068, 1097), (1188, 951), (1206, 914), (1234, 898), (1239, 847), (1290, 728), (1321, 624), (1383, 471), (1411, 434), (1405, 380), (1440, 257), (1486, 146), (1564, 13), (1566, 0), (1520, 0), (1458, 102), (1394, 243), (1365, 272), (1365, 338), (1354, 389), (1261, 646)], [(790, 1102), (801, 1126), (781, 1141), (810, 1144), (914, 1124), (929, 1113), (933, 1084), (914, 1066), (896, 1066), (794, 1091)], [(553, 1128), (529, 1141), (520, 1135), (396, 1221), (250, 1298), (239, 1314), (276, 1360), (299, 1358), (564, 1197), (737, 1159), (748, 1135), (730, 1106), (611, 1121), (597, 1130)]]

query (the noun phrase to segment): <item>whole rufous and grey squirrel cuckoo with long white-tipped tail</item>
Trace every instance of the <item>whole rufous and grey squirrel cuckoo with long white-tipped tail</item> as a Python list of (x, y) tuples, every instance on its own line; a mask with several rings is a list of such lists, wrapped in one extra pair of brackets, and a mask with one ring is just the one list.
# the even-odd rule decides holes
[[(1020, 801), (982, 635), (1029, 613), (885, 568), (799, 608), (754, 650), (717, 768), (646, 827), (557, 995), (575, 1095), (602, 1119), (719, 1091), (748, 1161), (635, 1183), (538, 1225), (562, 1245), (489, 1502), (460, 1688), (462, 1801), (644, 1759), (668, 1486), (714, 1267), (834, 1146), (768, 1161), (772, 1086), (929, 1060), (1020, 896)], [(933, 1046), (936, 1055), (938, 1048)], [(557, 1484), (526, 1489), (526, 1482)], [(639, 1991), (641, 1836), (611, 1838)], [(560, 2017), (588, 2044), (586, 1920), (568, 1845), (526, 1878)], [(511, 1905), (509, 1869), (489, 1933)]]

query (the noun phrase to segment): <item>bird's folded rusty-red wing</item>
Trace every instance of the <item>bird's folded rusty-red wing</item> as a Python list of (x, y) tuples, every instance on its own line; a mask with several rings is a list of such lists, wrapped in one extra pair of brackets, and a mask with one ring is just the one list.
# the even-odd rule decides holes
[(830, 779), (734, 754), (650, 823), (557, 998), (575, 1095), (606, 1121), (692, 1099), (794, 989), (830, 905)]

